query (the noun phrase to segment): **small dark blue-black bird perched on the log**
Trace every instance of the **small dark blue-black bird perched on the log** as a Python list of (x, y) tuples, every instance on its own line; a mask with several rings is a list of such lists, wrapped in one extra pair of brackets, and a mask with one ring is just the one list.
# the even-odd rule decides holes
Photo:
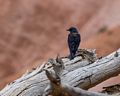
[(81, 42), (81, 36), (78, 32), (78, 30), (75, 27), (70, 27), (67, 31), (69, 31), (68, 35), (68, 46), (70, 50), (70, 60), (74, 59), (76, 51), (78, 50), (78, 47)]

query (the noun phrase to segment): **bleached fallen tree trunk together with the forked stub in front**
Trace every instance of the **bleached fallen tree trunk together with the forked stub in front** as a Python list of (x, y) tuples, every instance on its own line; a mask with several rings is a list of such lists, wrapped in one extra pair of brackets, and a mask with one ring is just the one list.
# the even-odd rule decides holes
[[(1, 96), (42, 96), (58, 93), (53, 96), (78, 96), (69, 94), (74, 92), (87, 93), (82, 89), (89, 89), (106, 79), (117, 76), (120, 73), (120, 49), (104, 58), (96, 58), (94, 51), (81, 49), (74, 60), (68, 58), (50, 59), (40, 67), (27, 72), (21, 78), (13, 81), (0, 91)], [(59, 85), (59, 86), (56, 86)], [(60, 87), (63, 86), (63, 87)], [(71, 86), (70, 88), (68, 88)], [(75, 87), (78, 87), (77, 89)], [(82, 88), (82, 89), (80, 89)], [(60, 95), (59, 91), (67, 95)], [(70, 89), (69, 91), (67, 89)], [(82, 91), (81, 91), (82, 90)], [(54, 91), (54, 92), (53, 92)], [(89, 92), (88, 92), (89, 93)], [(91, 92), (81, 96), (90, 95)], [(105, 94), (102, 94), (105, 96)], [(101, 95), (101, 96), (102, 96)]]

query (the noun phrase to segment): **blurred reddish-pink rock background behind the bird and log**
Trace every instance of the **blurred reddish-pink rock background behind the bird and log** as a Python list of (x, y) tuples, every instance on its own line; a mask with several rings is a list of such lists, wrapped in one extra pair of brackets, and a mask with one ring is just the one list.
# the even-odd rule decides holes
[(70, 26), (79, 29), (81, 48), (98, 56), (120, 48), (119, 8), (120, 0), (0, 0), (0, 89), (48, 58), (68, 55)]

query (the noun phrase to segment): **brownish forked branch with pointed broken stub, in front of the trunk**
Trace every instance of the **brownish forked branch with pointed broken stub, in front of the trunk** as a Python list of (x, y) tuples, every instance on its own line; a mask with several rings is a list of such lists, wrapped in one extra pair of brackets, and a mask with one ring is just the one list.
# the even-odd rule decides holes
[(61, 82), (60, 75), (57, 75), (56, 72), (53, 73), (46, 70), (46, 75), (50, 80), (50, 84), (44, 90), (43, 96), (110, 96), (103, 93), (85, 91), (78, 87), (67, 85)]

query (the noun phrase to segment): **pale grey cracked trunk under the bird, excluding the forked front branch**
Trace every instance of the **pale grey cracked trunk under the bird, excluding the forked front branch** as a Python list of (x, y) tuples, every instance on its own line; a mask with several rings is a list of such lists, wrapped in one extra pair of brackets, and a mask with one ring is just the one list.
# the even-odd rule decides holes
[[(88, 89), (120, 73), (120, 49), (104, 58), (97, 59), (94, 63), (86, 53), (83, 54), (72, 61), (67, 58), (62, 59), (63, 67), (58, 70), (61, 71), (59, 75), (62, 83)], [(50, 59), (47, 63), (43, 63), (40, 67), (7, 85), (0, 91), (0, 95), (41, 96), (50, 84), (44, 69), (52, 72), (53, 65), (56, 63), (55, 59)]]

